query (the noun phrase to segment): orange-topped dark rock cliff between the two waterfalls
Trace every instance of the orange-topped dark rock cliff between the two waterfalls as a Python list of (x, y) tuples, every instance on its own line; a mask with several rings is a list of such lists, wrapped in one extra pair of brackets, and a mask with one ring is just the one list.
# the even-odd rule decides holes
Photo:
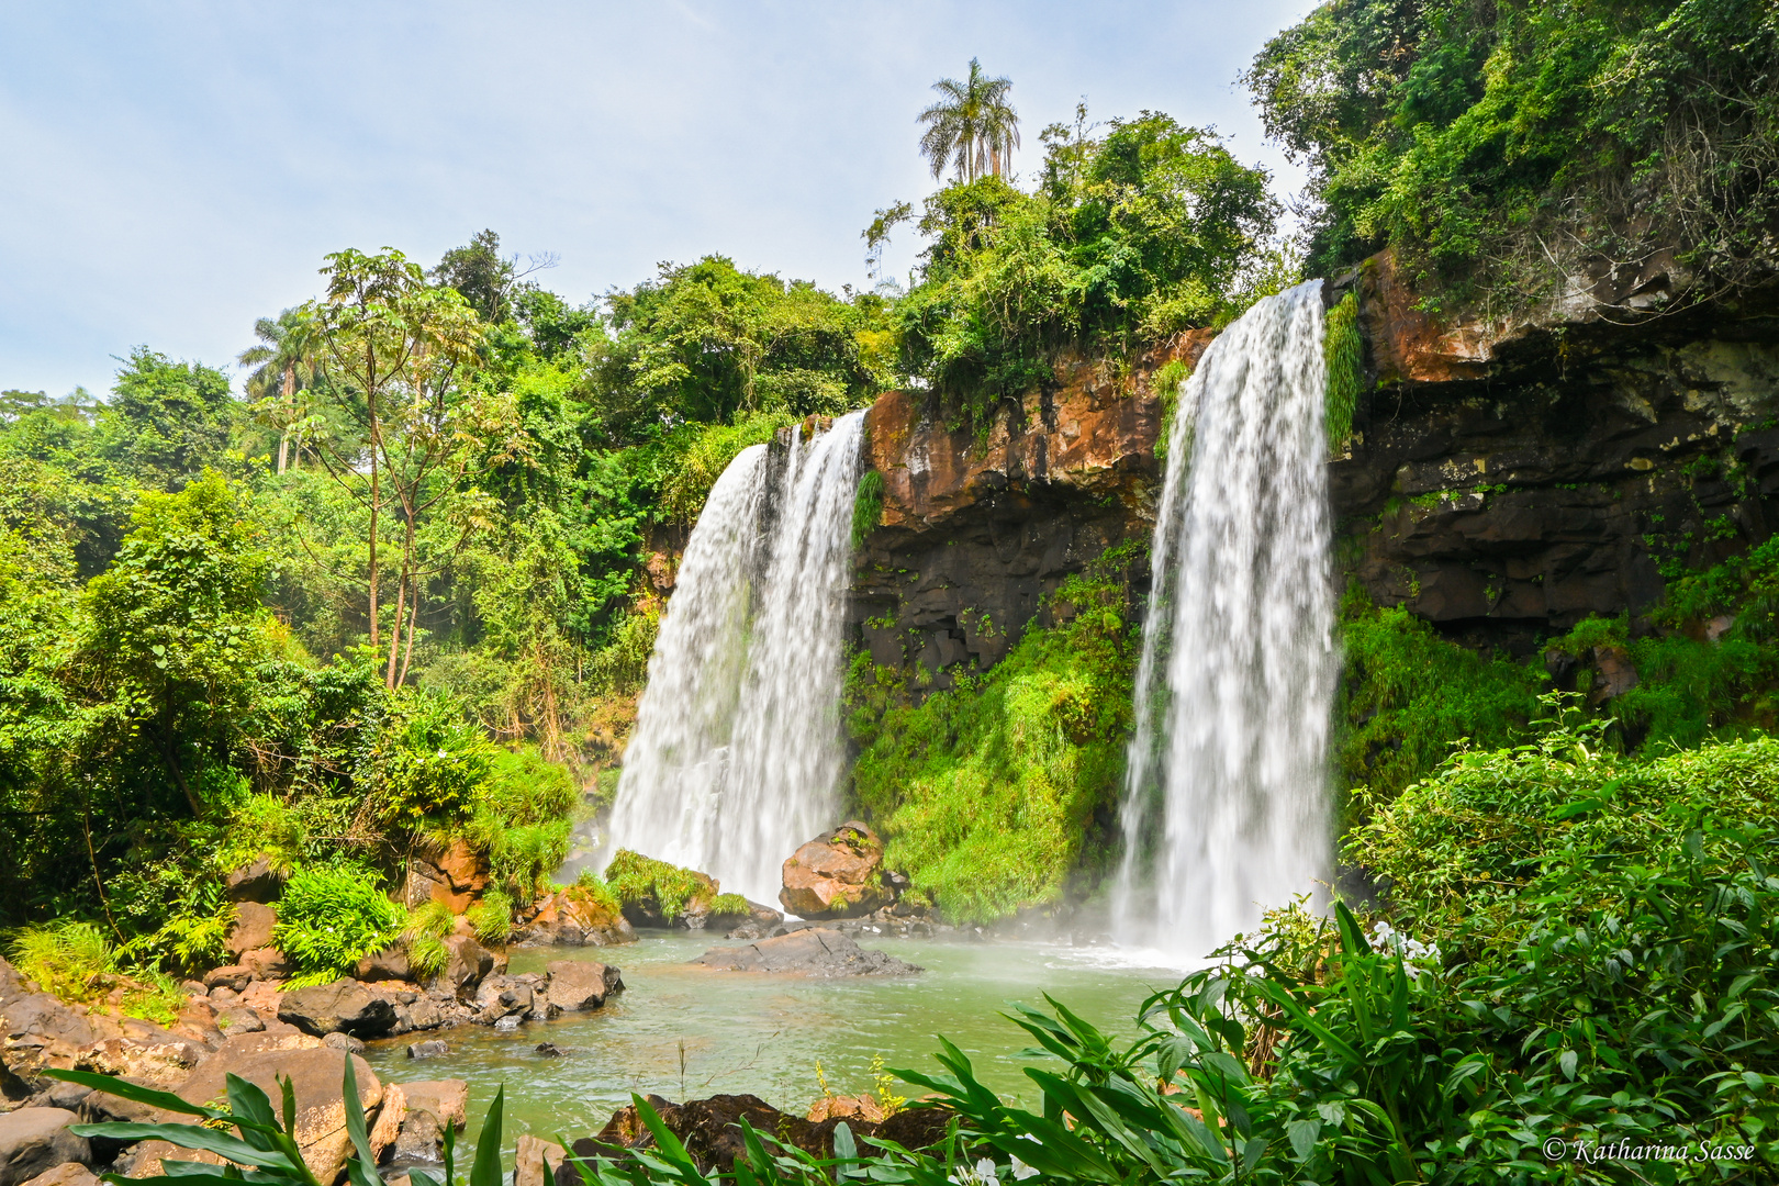
[(1123, 373), (1080, 359), (1003, 404), (984, 434), (891, 391), (866, 416), (865, 466), (884, 478), (882, 516), (856, 555), (852, 621), (881, 665), (998, 663), (1044, 594), (1126, 539), (1147, 539), (1162, 400), (1151, 377), (1197, 361), (1210, 333), (1181, 334)]

